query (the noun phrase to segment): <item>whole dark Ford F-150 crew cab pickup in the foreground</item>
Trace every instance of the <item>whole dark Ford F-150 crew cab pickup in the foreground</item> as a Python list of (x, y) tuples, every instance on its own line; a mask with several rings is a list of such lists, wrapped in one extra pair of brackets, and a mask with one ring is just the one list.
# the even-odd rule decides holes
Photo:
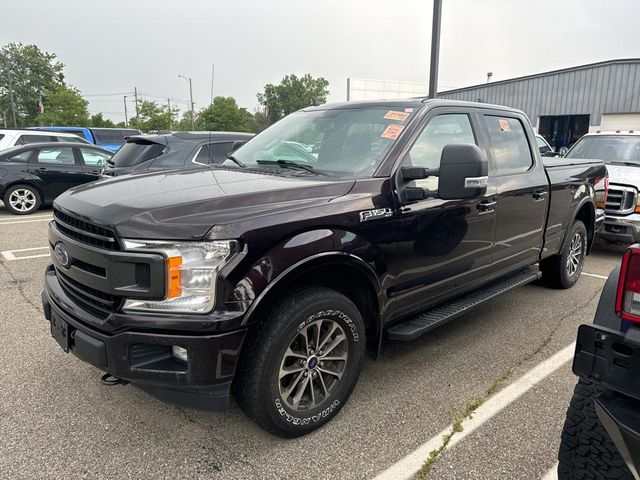
[(232, 391), (261, 427), (303, 435), (384, 335), (412, 340), (540, 277), (575, 284), (606, 175), (543, 164), (505, 107), (310, 107), (222, 164), (59, 197), (44, 312), (65, 351), (115, 377), (202, 408)]

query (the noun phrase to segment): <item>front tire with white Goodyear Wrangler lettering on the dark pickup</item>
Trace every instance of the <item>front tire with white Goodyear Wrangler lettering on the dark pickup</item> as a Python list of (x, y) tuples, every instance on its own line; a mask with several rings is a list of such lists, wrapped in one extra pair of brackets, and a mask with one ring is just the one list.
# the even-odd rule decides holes
[[(316, 331), (314, 329), (316, 327), (319, 326), (319, 332), (325, 328), (326, 335), (334, 324), (339, 327), (335, 329), (338, 332), (334, 334), (336, 337), (328, 335), (326, 339), (331, 340), (333, 345), (334, 339), (337, 341), (343, 336), (346, 337), (346, 339), (340, 340), (333, 349), (333, 351), (339, 350), (340, 352), (344, 352), (346, 349), (345, 361), (340, 360), (332, 363), (331, 360), (328, 360), (327, 364), (319, 363), (320, 353), (323, 352), (323, 348), (327, 348), (323, 347), (322, 341), (319, 342), (321, 348), (315, 361), (317, 370), (311, 370), (316, 368), (312, 366), (311, 356), (308, 360), (302, 360), (288, 355), (289, 351), (294, 348), (297, 351), (298, 346), (304, 345), (296, 342), (303, 342), (307, 334), (312, 334), (315, 338)], [(274, 304), (262, 316), (256, 328), (249, 332), (249, 335), (238, 366), (234, 396), (242, 410), (260, 427), (275, 435), (293, 438), (316, 430), (338, 414), (358, 381), (365, 353), (364, 324), (360, 312), (351, 300), (328, 288), (302, 288), (282, 302)], [(309, 351), (312, 352), (313, 348), (318, 347), (318, 345), (313, 345), (313, 338), (307, 344), (307, 347), (310, 348)], [(324, 337), (320, 336), (320, 338), (322, 340)], [(289, 350), (290, 348), (291, 350)], [(329, 358), (328, 354), (325, 355), (326, 358)], [(297, 362), (300, 362), (300, 368), (304, 370), (301, 373), (290, 374), (290, 377), (282, 377), (281, 366), (285, 366), (288, 359), (293, 359), (296, 362), (291, 365), (291, 368), (299, 368)], [(321, 365), (323, 369), (320, 368)], [(285, 368), (289, 367), (285, 366)], [(324, 368), (336, 371), (342, 368), (342, 374), (337, 383), (333, 383), (336, 381), (335, 377), (326, 374), (323, 377), (321, 372), (326, 372)], [(301, 377), (298, 375), (305, 372), (308, 374), (305, 374), (305, 378), (300, 380)], [(316, 379), (315, 383), (311, 374)], [(321, 398), (322, 391), (319, 380), (322, 378), (327, 379), (326, 382), (323, 380), (322, 385), (326, 395), (323, 395), (317, 406), (312, 408), (316, 398)], [(296, 383), (295, 380), (300, 383)], [(300, 386), (305, 381), (307, 383), (302, 387), (303, 398), (308, 397), (308, 399), (298, 399), (298, 407), (300, 408), (296, 410), (287, 403), (291, 397), (286, 394), (286, 390), (292, 388), (292, 393), (294, 390), (297, 393), (300, 387), (293, 388), (291, 385)], [(283, 387), (285, 382), (289, 383)], [(311, 390), (308, 389), (308, 384), (311, 384)], [(331, 386), (327, 388), (327, 384)], [(318, 387), (319, 393), (315, 393), (317, 397), (311, 397), (316, 391), (314, 385)], [(283, 389), (285, 392), (282, 391)], [(306, 409), (303, 405), (304, 402), (307, 403)]]

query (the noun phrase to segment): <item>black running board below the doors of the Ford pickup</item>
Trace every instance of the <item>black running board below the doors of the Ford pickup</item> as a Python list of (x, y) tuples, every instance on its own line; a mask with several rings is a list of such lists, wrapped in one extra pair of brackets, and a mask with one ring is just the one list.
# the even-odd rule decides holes
[(521, 285), (538, 280), (542, 273), (537, 268), (519, 270), (508, 276), (474, 290), (462, 297), (451, 300), (437, 307), (420, 313), (415, 317), (396, 323), (387, 328), (387, 336), (391, 340), (410, 341), (423, 333), (433, 330), (449, 320), (463, 315), (478, 305), (497, 297)]

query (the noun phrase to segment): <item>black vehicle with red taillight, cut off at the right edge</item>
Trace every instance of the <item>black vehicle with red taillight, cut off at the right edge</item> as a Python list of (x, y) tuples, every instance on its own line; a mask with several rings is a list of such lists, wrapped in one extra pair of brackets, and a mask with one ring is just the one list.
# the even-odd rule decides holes
[(640, 478), (640, 244), (627, 249), (578, 329), (558, 478)]

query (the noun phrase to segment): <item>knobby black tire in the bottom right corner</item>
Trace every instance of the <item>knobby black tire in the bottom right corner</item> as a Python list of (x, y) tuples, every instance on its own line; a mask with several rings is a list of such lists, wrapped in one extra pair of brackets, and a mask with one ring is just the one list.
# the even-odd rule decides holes
[(558, 480), (633, 480), (596, 414), (598, 388), (580, 380), (567, 410), (558, 452)]

